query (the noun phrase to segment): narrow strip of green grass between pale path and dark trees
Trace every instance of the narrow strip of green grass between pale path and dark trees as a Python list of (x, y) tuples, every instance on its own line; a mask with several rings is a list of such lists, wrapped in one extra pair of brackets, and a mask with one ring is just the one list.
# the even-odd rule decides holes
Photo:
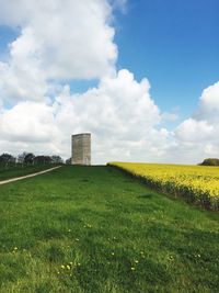
[(0, 181), (39, 172), (53, 167), (56, 167), (56, 165), (32, 165), (24, 167), (22, 167), (22, 165), (18, 165), (16, 167), (11, 166), (9, 169), (5, 169), (3, 166), (0, 166)]

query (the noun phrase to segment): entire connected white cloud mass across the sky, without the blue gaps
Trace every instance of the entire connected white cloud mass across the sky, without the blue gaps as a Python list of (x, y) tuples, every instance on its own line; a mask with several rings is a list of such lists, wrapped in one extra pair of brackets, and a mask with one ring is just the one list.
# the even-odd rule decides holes
[[(0, 61), (0, 153), (69, 157), (70, 135), (91, 132), (95, 164), (186, 164), (219, 154), (219, 82), (170, 133), (162, 122), (176, 116), (160, 112), (149, 81), (116, 72), (113, 7), (125, 9), (125, 0), (0, 0), (0, 25), (20, 27), (8, 63)], [(94, 78), (96, 88), (70, 93), (68, 80)]]

